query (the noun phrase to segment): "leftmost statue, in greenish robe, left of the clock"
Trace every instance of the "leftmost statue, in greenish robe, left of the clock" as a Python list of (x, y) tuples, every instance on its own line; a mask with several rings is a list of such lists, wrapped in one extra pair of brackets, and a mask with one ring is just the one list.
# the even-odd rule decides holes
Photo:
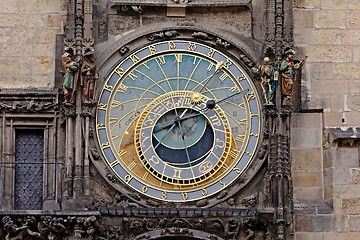
[(72, 50), (65, 48), (64, 54), (61, 56), (63, 69), (60, 72), (63, 74), (63, 92), (65, 103), (74, 103), (74, 80), (76, 79), (76, 72), (78, 71), (78, 64), (72, 58)]

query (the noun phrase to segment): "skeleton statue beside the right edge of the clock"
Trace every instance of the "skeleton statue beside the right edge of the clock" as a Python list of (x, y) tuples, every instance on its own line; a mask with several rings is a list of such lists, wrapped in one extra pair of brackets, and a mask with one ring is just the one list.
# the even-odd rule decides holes
[(277, 86), (276, 71), (270, 63), (270, 58), (264, 57), (263, 64), (258, 67), (261, 79), (261, 88), (265, 104), (275, 104), (275, 90)]

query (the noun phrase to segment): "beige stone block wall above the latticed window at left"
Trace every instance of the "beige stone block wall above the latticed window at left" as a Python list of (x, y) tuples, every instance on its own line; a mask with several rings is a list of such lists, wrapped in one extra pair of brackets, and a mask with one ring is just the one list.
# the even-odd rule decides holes
[(0, 88), (51, 89), (66, 0), (0, 2)]

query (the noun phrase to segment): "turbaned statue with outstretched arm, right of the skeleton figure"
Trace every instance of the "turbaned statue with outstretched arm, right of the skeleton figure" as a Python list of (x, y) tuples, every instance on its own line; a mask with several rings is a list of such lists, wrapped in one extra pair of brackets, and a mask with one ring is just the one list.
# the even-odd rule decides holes
[(307, 56), (298, 63), (294, 62), (295, 51), (288, 49), (285, 51), (285, 59), (281, 62), (280, 72), (282, 77), (281, 92), (283, 97), (283, 105), (291, 105), (291, 95), (296, 80), (296, 71), (305, 64)]

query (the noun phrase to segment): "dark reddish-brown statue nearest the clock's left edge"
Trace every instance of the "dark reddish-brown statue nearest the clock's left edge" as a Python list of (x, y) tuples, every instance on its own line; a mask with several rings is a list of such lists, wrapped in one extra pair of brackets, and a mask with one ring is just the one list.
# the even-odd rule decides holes
[(95, 82), (99, 79), (95, 65), (95, 52), (86, 49), (84, 53), (84, 61), (81, 66), (81, 99), (84, 104), (94, 101)]

